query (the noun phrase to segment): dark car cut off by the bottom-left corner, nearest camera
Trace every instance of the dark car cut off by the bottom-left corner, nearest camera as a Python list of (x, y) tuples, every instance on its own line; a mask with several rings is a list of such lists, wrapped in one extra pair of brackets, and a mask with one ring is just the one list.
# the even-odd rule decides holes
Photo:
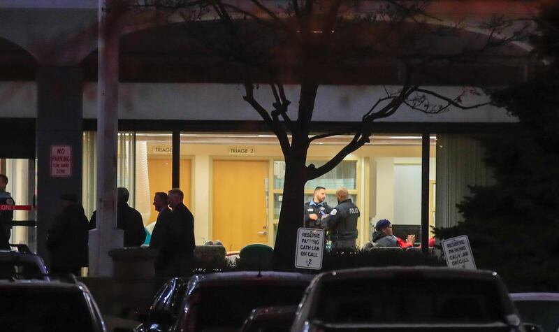
[(80, 282), (0, 281), (0, 330), (105, 332), (99, 308)]

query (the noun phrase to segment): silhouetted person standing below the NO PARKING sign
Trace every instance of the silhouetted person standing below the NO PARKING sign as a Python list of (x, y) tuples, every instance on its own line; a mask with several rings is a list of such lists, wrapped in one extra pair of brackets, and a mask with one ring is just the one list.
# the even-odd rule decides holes
[(64, 194), (60, 199), (62, 210), (47, 236), (50, 272), (80, 275), (80, 268), (88, 263), (89, 224), (77, 195)]

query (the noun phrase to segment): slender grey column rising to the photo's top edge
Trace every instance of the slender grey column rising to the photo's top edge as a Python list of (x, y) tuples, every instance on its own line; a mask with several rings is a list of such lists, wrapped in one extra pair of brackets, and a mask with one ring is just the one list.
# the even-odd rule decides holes
[[(111, 276), (109, 251), (123, 245), (117, 221), (119, 1), (99, 0), (97, 78), (97, 228), (89, 231), (89, 275)], [(112, 16), (111, 16), (112, 15)]]

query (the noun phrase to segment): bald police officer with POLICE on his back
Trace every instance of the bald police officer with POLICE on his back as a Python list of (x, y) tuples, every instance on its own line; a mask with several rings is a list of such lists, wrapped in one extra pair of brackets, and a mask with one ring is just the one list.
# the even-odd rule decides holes
[(336, 207), (322, 219), (322, 224), (330, 230), (331, 250), (354, 248), (358, 235), (357, 219), (361, 213), (349, 198), (346, 188), (336, 190), (336, 199)]

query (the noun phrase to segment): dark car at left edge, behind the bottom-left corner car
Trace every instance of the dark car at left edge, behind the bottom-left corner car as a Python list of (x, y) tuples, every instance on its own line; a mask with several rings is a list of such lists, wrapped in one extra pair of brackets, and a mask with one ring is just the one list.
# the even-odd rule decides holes
[(0, 279), (50, 280), (45, 262), (27, 245), (10, 247), (11, 250), (0, 250)]

